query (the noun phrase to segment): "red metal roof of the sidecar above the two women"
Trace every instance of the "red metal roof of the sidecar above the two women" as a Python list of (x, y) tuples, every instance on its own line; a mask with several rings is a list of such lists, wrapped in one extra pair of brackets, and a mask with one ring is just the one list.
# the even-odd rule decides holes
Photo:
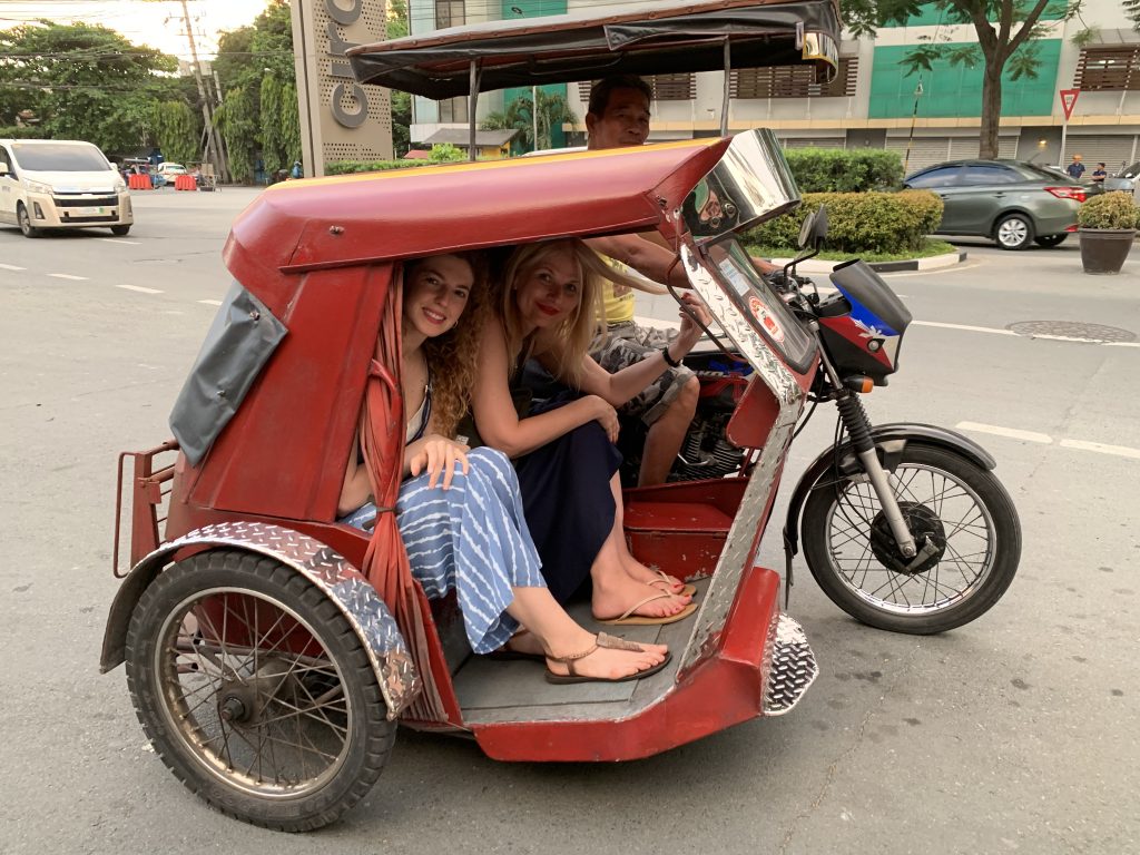
[(234, 222), (226, 266), (267, 277), (569, 235), (658, 228), (731, 139), (284, 181)]

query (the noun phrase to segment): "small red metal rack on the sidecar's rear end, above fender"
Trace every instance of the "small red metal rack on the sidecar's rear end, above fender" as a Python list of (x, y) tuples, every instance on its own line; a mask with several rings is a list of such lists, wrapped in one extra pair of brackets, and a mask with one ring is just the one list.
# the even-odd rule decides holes
[[(111, 570), (116, 579), (130, 572), (144, 556), (158, 548), (162, 543), (158, 526), (166, 521), (169, 497), (174, 478), (178, 440), (169, 439), (148, 451), (123, 451), (119, 455), (119, 477), (115, 483), (115, 548), (112, 551)], [(173, 454), (163, 461), (160, 455)], [(119, 567), (119, 544), (123, 531), (123, 463), (132, 457), (131, 488), (131, 554), (127, 568)]]

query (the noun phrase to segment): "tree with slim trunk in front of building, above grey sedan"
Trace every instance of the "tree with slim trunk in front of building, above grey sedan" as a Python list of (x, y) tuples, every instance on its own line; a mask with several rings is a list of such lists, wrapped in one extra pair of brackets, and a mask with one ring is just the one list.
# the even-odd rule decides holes
[[(925, 5), (923, 0), (846, 0), (844, 18), (852, 32), (873, 35), (876, 27), (904, 23)], [(1008, 71), (1010, 80), (1035, 79), (1041, 60), (1033, 42), (1047, 34), (1041, 25), (1042, 15), (1049, 10), (1069, 21), (1080, 16), (1083, 0), (934, 0), (930, 5), (943, 13), (943, 21), (947, 24), (972, 25), (978, 43), (962, 46), (927, 41), (907, 52), (904, 67), (914, 74), (930, 71), (938, 59), (968, 67), (982, 63), (978, 155), (996, 157), (1002, 75)], [(1125, 0), (1125, 5), (1137, 7), (1140, 0)]]

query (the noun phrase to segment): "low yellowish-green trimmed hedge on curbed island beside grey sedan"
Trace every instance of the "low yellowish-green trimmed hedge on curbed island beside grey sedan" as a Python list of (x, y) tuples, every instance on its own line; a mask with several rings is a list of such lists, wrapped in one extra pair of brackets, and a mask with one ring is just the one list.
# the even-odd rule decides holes
[(942, 221), (942, 199), (929, 190), (902, 193), (805, 193), (804, 204), (744, 237), (752, 246), (795, 250), (804, 218), (828, 209), (825, 249), (836, 252), (903, 253), (919, 250)]

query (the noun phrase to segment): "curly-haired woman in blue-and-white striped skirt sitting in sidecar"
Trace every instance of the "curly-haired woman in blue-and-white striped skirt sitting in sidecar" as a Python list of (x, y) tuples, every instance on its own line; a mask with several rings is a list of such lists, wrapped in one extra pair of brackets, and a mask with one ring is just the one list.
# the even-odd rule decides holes
[[(555, 602), (510, 461), (455, 439), (456, 423), (470, 406), (486, 279), (474, 254), (433, 255), (404, 270), (400, 386), (412, 416), (396, 513), (412, 573), (429, 597), (455, 589), (475, 653), (508, 648), (545, 658), (553, 683), (656, 673), (668, 661), (665, 646), (595, 636)], [(350, 455), (340, 521), (370, 528), (377, 513), (370, 492), (363, 455)]]

